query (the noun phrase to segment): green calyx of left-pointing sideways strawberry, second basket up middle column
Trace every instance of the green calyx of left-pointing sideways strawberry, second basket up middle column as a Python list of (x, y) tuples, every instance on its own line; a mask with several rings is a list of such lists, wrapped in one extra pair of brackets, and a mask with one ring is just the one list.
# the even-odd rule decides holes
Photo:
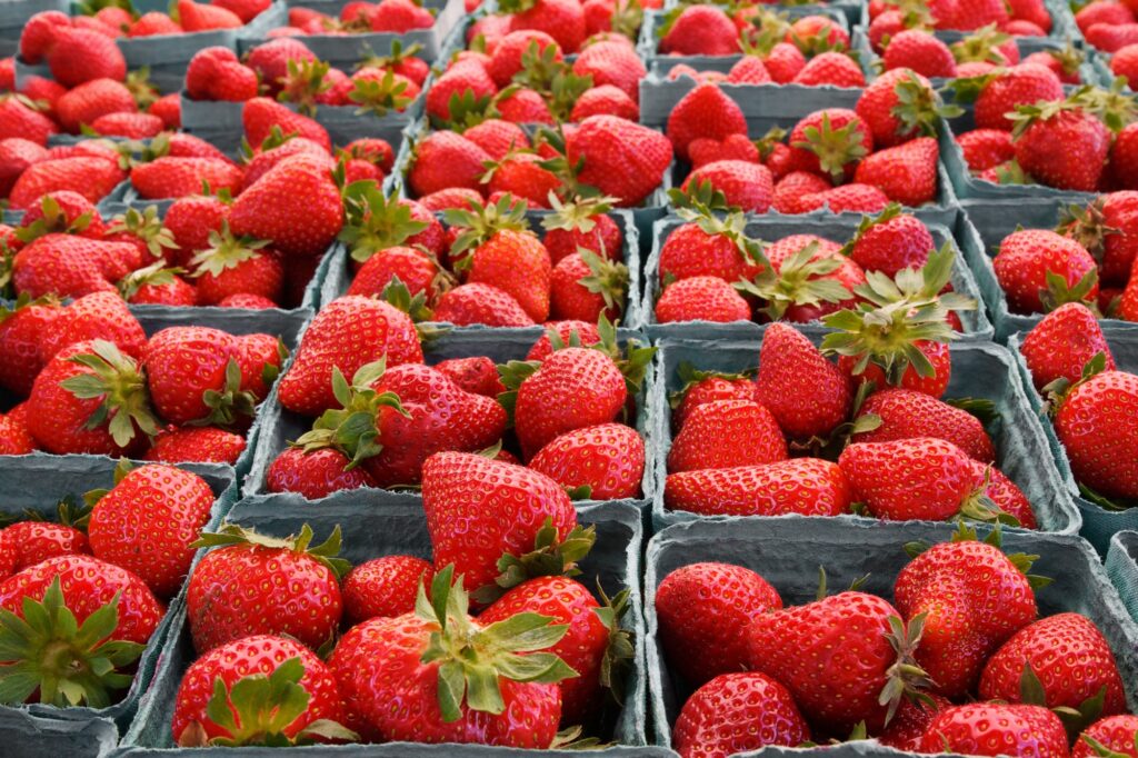
[(292, 443), (306, 453), (331, 447), (344, 453), (351, 461), (345, 470), (357, 467), (361, 461), (379, 455), (384, 446), (379, 443), (380, 417), (385, 407), (410, 418), (410, 413), (393, 392), (377, 392), (373, 385), (384, 378), (387, 356), (360, 368), (349, 385), (339, 366), (332, 366), (332, 394), (340, 409), (324, 411), (307, 431)]

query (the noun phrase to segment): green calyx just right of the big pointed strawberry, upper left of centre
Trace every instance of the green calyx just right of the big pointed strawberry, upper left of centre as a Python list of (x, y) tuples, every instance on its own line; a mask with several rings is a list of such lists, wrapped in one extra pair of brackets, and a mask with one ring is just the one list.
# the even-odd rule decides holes
[(384, 195), (373, 181), (353, 182), (344, 190), (347, 217), (339, 240), (352, 259), (365, 262), (380, 250), (404, 245), (430, 224), (412, 216), (412, 205), (399, 203), (395, 192)]

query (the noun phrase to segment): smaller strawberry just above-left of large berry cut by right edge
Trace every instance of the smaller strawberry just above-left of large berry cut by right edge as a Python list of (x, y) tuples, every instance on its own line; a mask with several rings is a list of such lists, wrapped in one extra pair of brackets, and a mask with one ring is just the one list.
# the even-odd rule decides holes
[(1066, 303), (1044, 316), (1024, 336), (1020, 353), (1040, 392), (1056, 379), (1079, 381), (1083, 366), (1099, 353), (1104, 356), (1104, 369), (1115, 369), (1114, 355), (1098, 320), (1081, 303)]

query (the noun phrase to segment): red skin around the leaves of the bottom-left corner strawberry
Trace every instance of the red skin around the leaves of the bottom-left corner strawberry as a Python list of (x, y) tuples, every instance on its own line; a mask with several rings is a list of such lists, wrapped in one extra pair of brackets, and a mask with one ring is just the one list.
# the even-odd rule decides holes
[(23, 618), (24, 598), (42, 600), (56, 577), (64, 604), (81, 625), (116, 593), (122, 593), (115, 640), (146, 644), (166, 612), (142, 579), (91, 555), (57, 555), (10, 576), (0, 584), (0, 608)]

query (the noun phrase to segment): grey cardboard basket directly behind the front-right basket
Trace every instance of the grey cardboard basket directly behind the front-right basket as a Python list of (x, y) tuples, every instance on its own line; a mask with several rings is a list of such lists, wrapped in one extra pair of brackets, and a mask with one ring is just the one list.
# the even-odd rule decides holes
[[(815, 344), (822, 341), (824, 329), (807, 327), (801, 330)], [(655, 486), (652, 500), (652, 524), (662, 528), (682, 521), (798, 521), (802, 517), (707, 517), (665, 508), (663, 486), (668, 476), (667, 455), (671, 450), (670, 393), (679, 390), (684, 380), (679, 368), (684, 363), (701, 371), (742, 373), (759, 365), (760, 339), (732, 341), (699, 341), (665, 339), (658, 344), (655, 355), (657, 381), (649, 397), (652, 451), (655, 458)], [(954, 344), (951, 347), (953, 376), (945, 393), (946, 399), (976, 398), (991, 401), (997, 420), (986, 428), (996, 448), (996, 467), (1014, 481), (1031, 501), (1040, 532), (1073, 535), (1082, 521), (1064, 486), (1063, 478), (1048, 460), (1049, 445), (1040, 419), (1024, 396), (1015, 366), (1015, 359), (1007, 349), (991, 343)], [(847, 525), (874, 525), (880, 521), (859, 517), (810, 518), (807, 521), (834, 521)], [(923, 521), (922, 524), (930, 524)], [(1009, 532), (1026, 532), (1008, 528)], [(1036, 534), (1032, 532), (1032, 534)]]

